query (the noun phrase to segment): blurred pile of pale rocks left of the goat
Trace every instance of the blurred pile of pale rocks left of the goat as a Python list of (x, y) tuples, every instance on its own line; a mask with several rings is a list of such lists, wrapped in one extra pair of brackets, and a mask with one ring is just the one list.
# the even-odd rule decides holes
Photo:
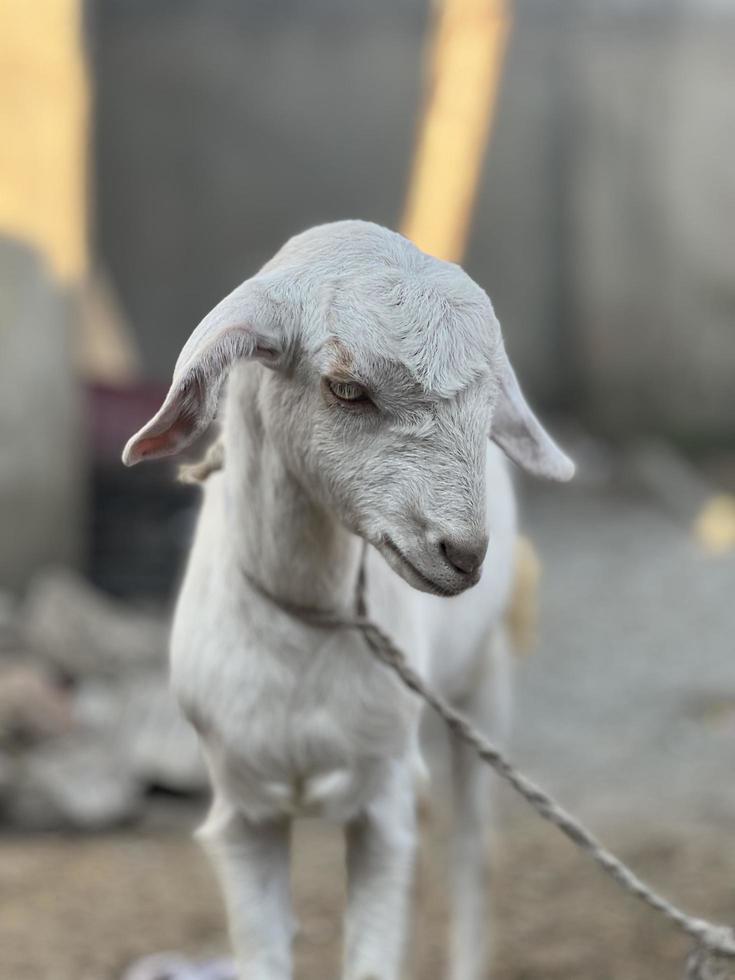
[(167, 622), (44, 572), (0, 594), (0, 822), (95, 830), (140, 819), (153, 790), (206, 792), (168, 690)]

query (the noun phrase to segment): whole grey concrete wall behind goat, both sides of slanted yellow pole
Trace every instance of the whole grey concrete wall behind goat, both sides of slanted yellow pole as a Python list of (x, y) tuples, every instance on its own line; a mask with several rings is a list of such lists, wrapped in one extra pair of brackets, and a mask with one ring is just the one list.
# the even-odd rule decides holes
[[(426, 0), (96, 0), (97, 234), (149, 371), (288, 235), (399, 219)], [(729, 438), (735, 4), (519, 0), (466, 265), (535, 398)]]

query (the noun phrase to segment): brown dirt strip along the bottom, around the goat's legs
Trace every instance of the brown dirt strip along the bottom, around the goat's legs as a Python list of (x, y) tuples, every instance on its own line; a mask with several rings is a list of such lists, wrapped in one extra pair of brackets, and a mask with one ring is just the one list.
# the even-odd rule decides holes
[[(634, 845), (619, 834), (612, 843), (637, 870), (689, 909), (735, 921), (735, 849), (634, 830)], [(553, 829), (516, 813), (494, 850), (497, 980), (683, 976), (686, 941), (619, 894)], [(444, 852), (441, 831), (427, 833), (412, 942), (412, 976), (421, 980), (443, 975)], [(295, 869), (300, 980), (338, 975), (343, 887), (337, 835), (304, 826)], [(166, 949), (226, 949), (217, 887), (187, 835), (0, 843), (0, 980), (119, 980), (132, 958)]]

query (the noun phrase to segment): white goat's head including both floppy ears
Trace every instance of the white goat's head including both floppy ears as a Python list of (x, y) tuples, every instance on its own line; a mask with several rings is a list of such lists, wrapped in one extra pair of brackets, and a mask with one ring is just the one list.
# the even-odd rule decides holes
[(573, 473), (520, 392), (487, 295), (376, 225), (296, 236), (216, 306), (125, 462), (188, 444), (242, 358), (273, 369), (263, 425), (306, 491), (416, 588), (455, 594), (479, 577), (488, 435), (533, 473)]

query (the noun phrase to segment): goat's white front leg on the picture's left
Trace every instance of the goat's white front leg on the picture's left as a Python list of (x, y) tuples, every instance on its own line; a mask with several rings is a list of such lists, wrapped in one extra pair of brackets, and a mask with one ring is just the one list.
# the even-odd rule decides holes
[(253, 824), (215, 800), (198, 832), (220, 879), (241, 980), (291, 980), (290, 824)]

